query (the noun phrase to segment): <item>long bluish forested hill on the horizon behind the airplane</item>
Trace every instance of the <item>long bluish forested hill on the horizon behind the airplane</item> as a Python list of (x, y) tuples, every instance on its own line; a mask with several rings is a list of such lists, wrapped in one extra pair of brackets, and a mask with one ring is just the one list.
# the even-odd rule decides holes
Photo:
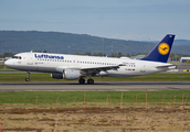
[[(172, 52), (189, 54), (190, 47), (180, 44), (175, 45)], [(189, 42), (188, 42), (189, 44)], [(150, 52), (156, 43), (124, 41), (91, 36), (87, 34), (72, 34), (60, 32), (38, 31), (0, 31), (0, 53), (48, 51), (51, 53), (112, 53), (138, 54)], [(181, 51), (182, 50), (182, 51)]]

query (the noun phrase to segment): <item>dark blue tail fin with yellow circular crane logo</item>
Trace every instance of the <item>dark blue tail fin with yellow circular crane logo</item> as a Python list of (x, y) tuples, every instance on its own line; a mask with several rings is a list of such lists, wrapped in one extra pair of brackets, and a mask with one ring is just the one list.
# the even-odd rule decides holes
[(165, 38), (146, 57), (141, 58), (141, 61), (167, 63), (173, 40), (175, 35), (167, 34)]

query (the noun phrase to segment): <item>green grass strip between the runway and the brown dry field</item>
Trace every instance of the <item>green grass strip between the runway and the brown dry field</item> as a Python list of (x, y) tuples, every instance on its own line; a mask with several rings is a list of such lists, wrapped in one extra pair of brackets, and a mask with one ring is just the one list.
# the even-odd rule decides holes
[[(107, 95), (110, 95), (112, 102), (120, 102), (123, 92), (123, 102), (161, 102), (165, 95), (165, 102), (172, 102), (176, 96), (176, 102), (181, 102), (190, 95), (190, 90), (162, 90), (162, 91), (0, 91), (0, 103), (35, 103), (36, 95), (39, 103), (72, 103), (83, 102), (86, 94), (86, 102), (106, 102)], [(187, 98), (187, 102), (190, 97)]]

